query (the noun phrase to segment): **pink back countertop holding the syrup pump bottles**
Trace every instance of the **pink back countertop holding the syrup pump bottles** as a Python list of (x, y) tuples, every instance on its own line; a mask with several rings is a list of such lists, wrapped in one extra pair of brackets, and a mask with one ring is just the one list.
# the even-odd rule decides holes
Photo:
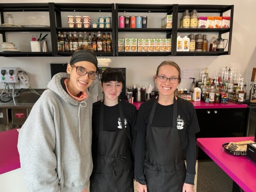
[[(211, 103), (205, 103), (203, 101), (190, 101), (195, 109), (212, 109), (212, 108), (246, 108), (247, 105), (246, 104), (236, 104), (236, 103), (232, 103), (232, 102), (229, 102), (228, 104), (221, 104), (221, 103), (214, 103), (214, 104), (211, 104)], [(137, 109), (140, 108), (140, 105), (142, 104), (143, 102), (133, 102), (133, 105), (136, 106)]]

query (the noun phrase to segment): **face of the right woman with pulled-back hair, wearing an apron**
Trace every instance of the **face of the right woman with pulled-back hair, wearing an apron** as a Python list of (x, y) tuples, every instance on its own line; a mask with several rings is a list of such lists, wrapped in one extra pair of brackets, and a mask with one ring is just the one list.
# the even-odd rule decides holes
[[(172, 65), (162, 65), (158, 70), (158, 76), (164, 76), (167, 78), (175, 77), (179, 78), (178, 70)], [(155, 83), (157, 85), (157, 89), (159, 91), (159, 98), (162, 96), (171, 96), (173, 98), (174, 91), (179, 85), (179, 81), (177, 83), (171, 83), (169, 79), (166, 82), (160, 82), (158, 77), (155, 75)]]

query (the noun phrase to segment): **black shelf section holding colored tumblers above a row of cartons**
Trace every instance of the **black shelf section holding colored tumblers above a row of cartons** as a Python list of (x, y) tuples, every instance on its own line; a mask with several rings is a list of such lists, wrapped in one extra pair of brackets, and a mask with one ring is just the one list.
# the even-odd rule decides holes
[[(166, 33), (167, 38), (171, 38), (174, 29), (173, 28), (118, 28), (118, 13), (166, 13), (175, 14), (173, 5), (157, 5), (157, 4), (119, 4), (116, 3), (115, 9), (115, 37), (116, 47), (118, 47), (118, 33), (120, 32), (143, 32), (143, 33)], [(170, 52), (119, 52), (116, 49), (116, 56), (169, 56), (173, 52), (173, 47)]]

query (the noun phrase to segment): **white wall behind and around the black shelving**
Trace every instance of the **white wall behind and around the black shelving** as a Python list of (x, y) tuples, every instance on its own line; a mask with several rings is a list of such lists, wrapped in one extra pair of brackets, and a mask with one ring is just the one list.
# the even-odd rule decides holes
[[(18, 0), (2, 0), (2, 3), (19, 3)], [(29, 2), (47, 2), (44, 0), (27, 0)], [(137, 0), (121, 1), (104, 0), (83, 1), (83, 0), (55, 0), (58, 3), (146, 3), (156, 4), (155, 0), (138, 2)], [(234, 4), (233, 34), (231, 55), (224, 56), (180, 56), (180, 57), (110, 57), (111, 67), (125, 67), (127, 69), (127, 85), (138, 84), (140, 86), (153, 83), (153, 75), (156, 73), (157, 66), (164, 60), (173, 60), (180, 65), (181, 69), (199, 68), (209, 69), (209, 76), (214, 77), (221, 72), (224, 67), (236, 67), (238, 74), (242, 74), (247, 85), (251, 79), (252, 68), (256, 67), (256, 38), (255, 38), (255, 7), (256, 1), (253, 0), (158, 0), (158, 4)], [(18, 23), (21, 25), (22, 23)], [(210, 40), (208, 35), (208, 40)], [(23, 40), (24, 41), (24, 40)], [(29, 41), (29, 40), (28, 40)], [(49, 40), (48, 40), (49, 42)], [(20, 67), (29, 73), (30, 82), (33, 88), (46, 88), (50, 80), (50, 62), (69, 62), (70, 57), (0, 57), (0, 67), (12, 66)], [(189, 89), (191, 80), (183, 79), (181, 87)], [(0, 89), (3, 86), (0, 85)], [(248, 88), (248, 86), (247, 86)], [(248, 90), (247, 90), (248, 91)]]

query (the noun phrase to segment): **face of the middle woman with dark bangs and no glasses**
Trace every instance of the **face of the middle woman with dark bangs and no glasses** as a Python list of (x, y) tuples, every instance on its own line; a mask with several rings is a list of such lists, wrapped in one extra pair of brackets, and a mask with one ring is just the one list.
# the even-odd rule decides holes
[(102, 89), (104, 92), (104, 100), (106, 103), (117, 104), (118, 96), (123, 88), (123, 84), (117, 81), (103, 82)]

